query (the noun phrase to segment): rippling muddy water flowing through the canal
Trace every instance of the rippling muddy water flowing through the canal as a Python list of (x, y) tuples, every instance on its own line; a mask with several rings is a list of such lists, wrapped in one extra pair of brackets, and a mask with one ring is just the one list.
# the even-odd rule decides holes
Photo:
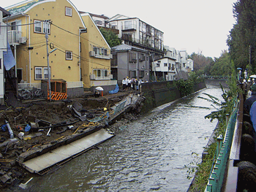
[(116, 137), (98, 150), (78, 156), (42, 177), (34, 176), (27, 191), (187, 191), (192, 153), (201, 156), (217, 121), (205, 120), (210, 107), (202, 93), (221, 98), (210, 86), (164, 110), (149, 112), (121, 126)]

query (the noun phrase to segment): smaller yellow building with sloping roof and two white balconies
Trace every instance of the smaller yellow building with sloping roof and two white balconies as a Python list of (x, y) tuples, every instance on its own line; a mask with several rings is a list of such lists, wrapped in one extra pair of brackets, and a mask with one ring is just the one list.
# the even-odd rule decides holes
[(87, 33), (80, 39), (80, 55), (86, 64), (81, 66), (81, 77), (86, 87), (102, 86), (105, 91), (113, 90), (116, 80), (110, 73), (110, 47), (89, 13), (81, 13)]

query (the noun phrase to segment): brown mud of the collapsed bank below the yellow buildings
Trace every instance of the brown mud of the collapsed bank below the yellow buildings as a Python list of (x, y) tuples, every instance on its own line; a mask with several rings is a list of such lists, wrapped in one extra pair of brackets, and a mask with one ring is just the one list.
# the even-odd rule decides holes
[[(56, 141), (61, 137), (70, 135), (83, 123), (88, 123), (91, 118), (102, 115), (103, 109), (106, 107), (110, 111), (110, 107), (118, 103), (124, 97), (128, 96), (130, 91), (106, 95), (99, 98), (89, 96), (88, 98), (67, 99), (64, 101), (14, 101), (12, 107), (7, 105), (0, 108), (0, 126), (3, 126), (5, 120), (8, 120), (12, 128), (14, 137), (18, 140), (8, 142), (7, 145), (1, 146), (4, 142), (9, 141), (10, 134), (8, 129), (3, 131), (1, 128), (0, 137), (0, 190), (3, 188), (12, 188), (19, 183), (25, 183), (23, 178), (26, 177), (26, 170), (18, 165), (16, 159), (20, 154), (25, 153), (33, 147), (45, 145)], [(70, 106), (78, 102), (81, 108), (81, 114), (86, 115), (86, 120), (79, 120), (74, 116), (74, 112)], [(137, 115), (126, 114), (125, 118), (118, 120), (110, 129), (113, 131), (125, 126), (130, 120), (137, 118)], [(29, 124), (37, 123), (37, 128), (31, 128), (30, 131), (25, 131)], [(50, 125), (49, 125), (50, 123)], [(70, 128), (68, 125), (72, 125)], [(49, 132), (49, 126), (54, 126)], [(90, 126), (89, 126), (90, 127)], [(20, 132), (24, 133), (23, 137), (19, 137)], [(31, 134), (40, 134), (38, 137), (30, 137)], [(24, 139), (25, 138), (25, 139)], [(28, 138), (28, 139), (26, 139)]]

